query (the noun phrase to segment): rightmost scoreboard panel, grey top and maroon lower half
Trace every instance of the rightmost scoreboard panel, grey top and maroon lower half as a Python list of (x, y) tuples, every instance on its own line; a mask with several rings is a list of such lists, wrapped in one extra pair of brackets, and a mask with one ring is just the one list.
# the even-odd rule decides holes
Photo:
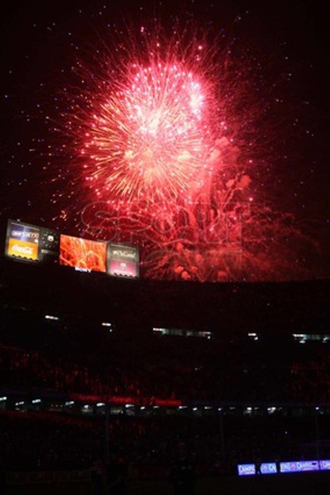
[(110, 275), (138, 277), (138, 248), (120, 244), (108, 244), (107, 272)]

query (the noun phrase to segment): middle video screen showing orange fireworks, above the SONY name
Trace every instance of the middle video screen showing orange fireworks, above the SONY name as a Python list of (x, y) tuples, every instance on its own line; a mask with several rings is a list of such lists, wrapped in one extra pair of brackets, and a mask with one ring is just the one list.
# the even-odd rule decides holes
[(60, 234), (59, 263), (78, 271), (106, 271), (106, 243)]

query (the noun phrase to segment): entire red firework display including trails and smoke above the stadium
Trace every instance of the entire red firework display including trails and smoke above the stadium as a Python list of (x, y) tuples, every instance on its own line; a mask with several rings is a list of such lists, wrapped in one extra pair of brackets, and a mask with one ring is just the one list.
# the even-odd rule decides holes
[(105, 52), (92, 70), (77, 62), (62, 118), (79, 227), (142, 247), (146, 276), (279, 278), (292, 267), (284, 239), (301, 235), (290, 215), (253, 200), (269, 136), (260, 143), (250, 69), (174, 34)]

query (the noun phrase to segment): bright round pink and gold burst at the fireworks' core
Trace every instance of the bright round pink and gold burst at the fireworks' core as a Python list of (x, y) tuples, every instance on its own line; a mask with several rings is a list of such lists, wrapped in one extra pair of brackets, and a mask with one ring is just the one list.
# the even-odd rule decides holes
[(102, 198), (182, 197), (212, 172), (209, 88), (182, 63), (132, 64), (104, 92), (81, 153), (85, 179)]

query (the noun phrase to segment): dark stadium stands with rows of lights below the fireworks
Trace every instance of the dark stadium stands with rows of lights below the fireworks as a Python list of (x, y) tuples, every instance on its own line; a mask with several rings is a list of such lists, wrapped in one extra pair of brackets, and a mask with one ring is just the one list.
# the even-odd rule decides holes
[(105, 473), (114, 493), (170, 493), (177, 462), (198, 493), (292, 492), (237, 464), (330, 458), (329, 280), (120, 279), (5, 257), (0, 273), (8, 493), (97, 492)]

